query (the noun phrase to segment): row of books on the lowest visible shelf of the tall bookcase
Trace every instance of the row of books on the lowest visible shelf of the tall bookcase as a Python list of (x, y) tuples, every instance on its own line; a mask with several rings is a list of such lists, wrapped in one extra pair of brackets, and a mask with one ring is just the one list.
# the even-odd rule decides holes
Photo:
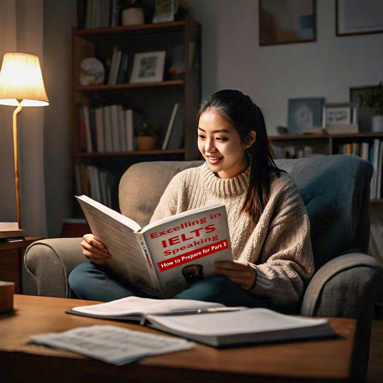
[(112, 208), (113, 174), (92, 165), (75, 164), (75, 195), (88, 195)]

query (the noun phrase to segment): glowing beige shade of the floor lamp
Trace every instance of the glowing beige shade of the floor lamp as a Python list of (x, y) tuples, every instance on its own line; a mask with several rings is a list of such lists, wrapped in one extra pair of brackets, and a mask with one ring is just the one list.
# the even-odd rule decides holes
[(18, 106), (49, 105), (37, 56), (6, 53), (0, 71), (0, 104)]

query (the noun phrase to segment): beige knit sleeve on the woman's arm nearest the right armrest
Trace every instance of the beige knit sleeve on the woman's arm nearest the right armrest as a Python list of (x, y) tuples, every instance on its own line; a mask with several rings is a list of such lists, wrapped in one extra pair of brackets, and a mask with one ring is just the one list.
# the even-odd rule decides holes
[(270, 223), (260, 264), (250, 264), (257, 276), (249, 293), (263, 296), (278, 306), (297, 303), (314, 273), (310, 221), (295, 183)]

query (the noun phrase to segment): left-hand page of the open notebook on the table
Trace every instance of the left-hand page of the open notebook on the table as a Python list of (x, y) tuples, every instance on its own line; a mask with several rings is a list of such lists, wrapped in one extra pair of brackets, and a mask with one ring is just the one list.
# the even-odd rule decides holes
[[(187, 309), (207, 309), (225, 307), (220, 303), (202, 302), (188, 299), (150, 299), (128, 296), (115, 301), (78, 306), (73, 311), (92, 315), (147, 315)], [(200, 315), (200, 314), (196, 314)], [(181, 316), (183, 317), (183, 315)]]

